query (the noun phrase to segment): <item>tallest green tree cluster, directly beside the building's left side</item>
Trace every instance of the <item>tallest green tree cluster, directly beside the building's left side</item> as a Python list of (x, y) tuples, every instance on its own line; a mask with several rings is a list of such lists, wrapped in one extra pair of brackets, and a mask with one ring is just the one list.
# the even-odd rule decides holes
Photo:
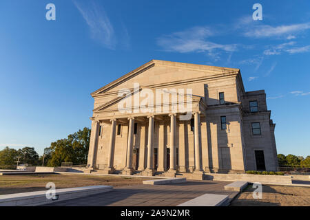
[(90, 129), (84, 128), (68, 135), (68, 138), (52, 142), (51, 157), (48, 166), (61, 166), (61, 162), (86, 164), (88, 148), (90, 146)]

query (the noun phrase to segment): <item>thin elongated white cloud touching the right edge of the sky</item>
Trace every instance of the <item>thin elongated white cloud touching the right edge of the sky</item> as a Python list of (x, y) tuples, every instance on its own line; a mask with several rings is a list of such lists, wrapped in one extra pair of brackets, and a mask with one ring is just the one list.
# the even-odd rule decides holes
[(245, 36), (254, 38), (265, 38), (271, 36), (292, 36), (293, 33), (302, 32), (310, 29), (310, 23), (298, 23), (292, 25), (280, 25), (273, 27), (271, 25), (256, 25), (255, 28), (249, 28), (244, 32)]

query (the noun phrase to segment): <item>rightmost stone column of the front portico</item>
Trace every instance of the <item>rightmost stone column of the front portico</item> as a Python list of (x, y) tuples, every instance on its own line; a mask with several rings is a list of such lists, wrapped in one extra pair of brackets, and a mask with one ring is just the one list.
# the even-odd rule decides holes
[(194, 113), (194, 135), (195, 135), (195, 171), (194, 179), (203, 179), (203, 171), (200, 166), (201, 151), (201, 127), (200, 127), (200, 111)]

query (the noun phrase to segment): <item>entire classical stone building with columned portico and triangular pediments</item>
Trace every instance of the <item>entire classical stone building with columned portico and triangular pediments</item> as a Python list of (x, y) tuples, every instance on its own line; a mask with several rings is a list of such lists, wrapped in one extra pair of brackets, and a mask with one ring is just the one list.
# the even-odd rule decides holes
[(278, 169), (265, 91), (245, 91), (239, 69), (152, 60), (91, 95), (89, 168), (172, 176)]

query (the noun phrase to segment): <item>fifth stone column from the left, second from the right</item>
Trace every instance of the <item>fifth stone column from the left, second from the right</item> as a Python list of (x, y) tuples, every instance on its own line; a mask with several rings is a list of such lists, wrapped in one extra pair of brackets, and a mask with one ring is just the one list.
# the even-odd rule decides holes
[(176, 176), (176, 113), (169, 114), (170, 116), (170, 168), (167, 176)]

